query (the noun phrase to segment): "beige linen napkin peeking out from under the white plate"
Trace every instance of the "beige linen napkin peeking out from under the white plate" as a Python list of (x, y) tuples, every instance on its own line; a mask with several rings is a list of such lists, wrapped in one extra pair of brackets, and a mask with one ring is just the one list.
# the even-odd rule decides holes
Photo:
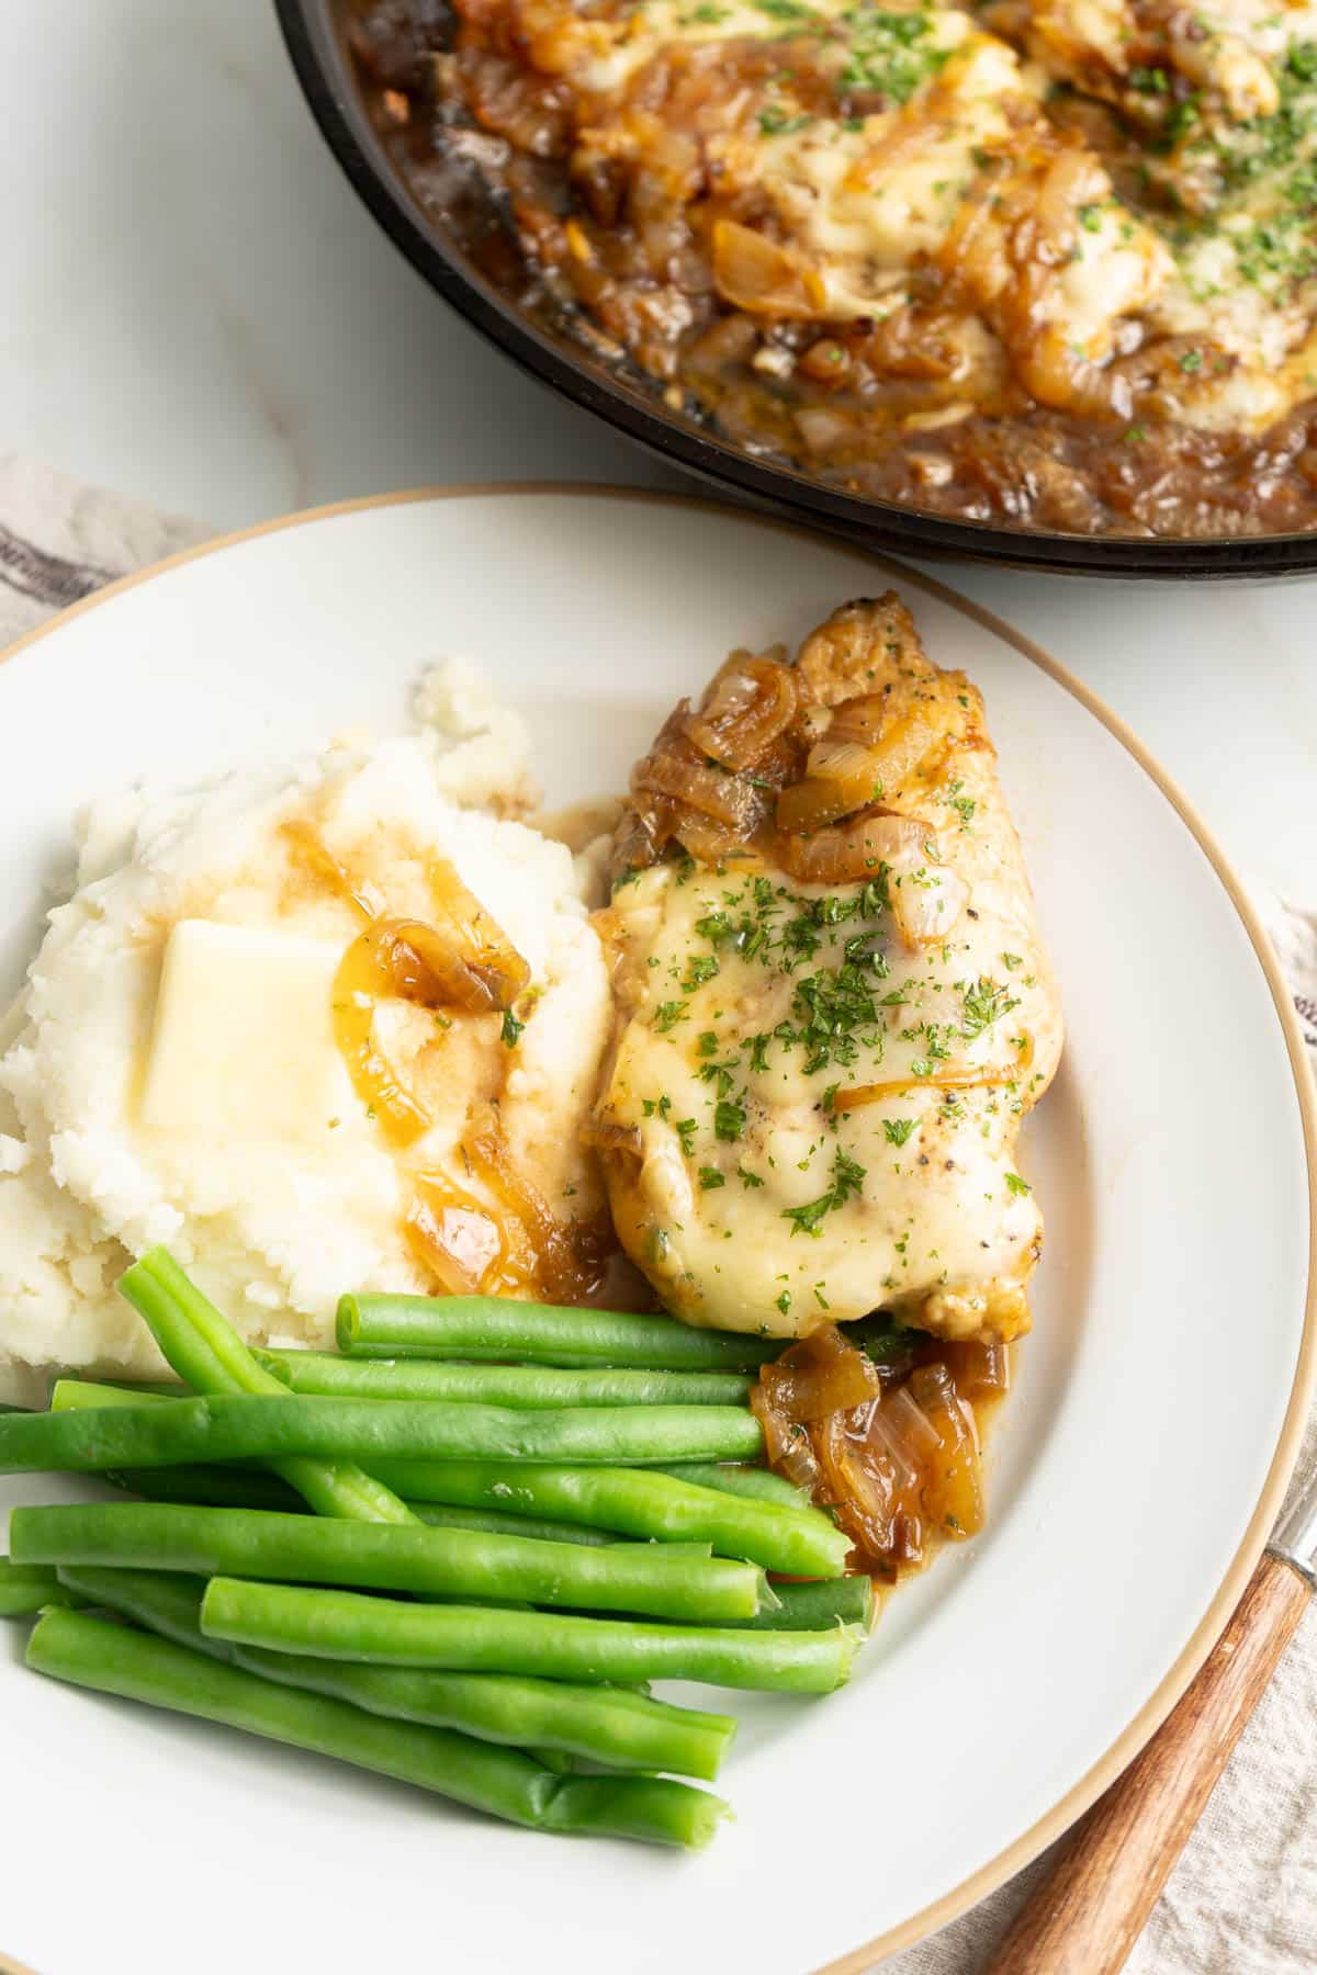
[[(0, 458), (0, 648), (207, 533), (45, 466)], [(1256, 903), (1317, 1061), (1317, 914), (1262, 895)], [(1313, 1463), (1317, 1422), (1309, 1422), (1299, 1473)], [(975, 1975), (1046, 1866), (1039, 1858), (942, 1934), (892, 1955), (885, 1975)], [(1317, 1610), (1303, 1620), (1129, 1961), (1131, 1975), (1301, 1969), (1317, 1969)]]

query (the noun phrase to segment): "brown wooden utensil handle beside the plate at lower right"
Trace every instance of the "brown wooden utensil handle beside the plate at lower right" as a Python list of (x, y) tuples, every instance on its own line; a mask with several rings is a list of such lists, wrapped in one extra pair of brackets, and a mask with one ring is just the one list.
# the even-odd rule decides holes
[(1193, 1687), (1074, 1827), (983, 1975), (1116, 1975), (1303, 1618), (1309, 1586), (1264, 1556)]

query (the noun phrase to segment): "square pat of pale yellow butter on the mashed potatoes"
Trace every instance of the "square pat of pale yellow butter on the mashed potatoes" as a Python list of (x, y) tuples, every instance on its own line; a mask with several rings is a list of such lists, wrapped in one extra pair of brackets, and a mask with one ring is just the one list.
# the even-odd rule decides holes
[(330, 940), (180, 918), (170, 932), (142, 1124), (312, 1149), (355, 1108), (334, 1043)]

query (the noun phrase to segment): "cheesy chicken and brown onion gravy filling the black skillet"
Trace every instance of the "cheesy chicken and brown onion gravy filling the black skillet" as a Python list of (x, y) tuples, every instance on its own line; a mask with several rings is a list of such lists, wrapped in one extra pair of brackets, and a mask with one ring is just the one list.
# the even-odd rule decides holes
[(754, 452), (969, 519), (1317, 525), (1311, 8), (344, 12), (421, 203), (476, 172), (494, 276)]

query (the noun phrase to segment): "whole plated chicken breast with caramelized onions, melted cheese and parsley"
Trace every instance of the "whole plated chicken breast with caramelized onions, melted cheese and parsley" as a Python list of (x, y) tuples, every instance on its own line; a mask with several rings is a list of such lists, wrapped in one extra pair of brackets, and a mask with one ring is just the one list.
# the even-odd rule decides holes
[(733, 654), (632, 776), (596, 1108), (626, 1252), (691, 1323), (1029, 1327), (1017, 1173), (1062, 1025), (983, 705), (904, 604)]

